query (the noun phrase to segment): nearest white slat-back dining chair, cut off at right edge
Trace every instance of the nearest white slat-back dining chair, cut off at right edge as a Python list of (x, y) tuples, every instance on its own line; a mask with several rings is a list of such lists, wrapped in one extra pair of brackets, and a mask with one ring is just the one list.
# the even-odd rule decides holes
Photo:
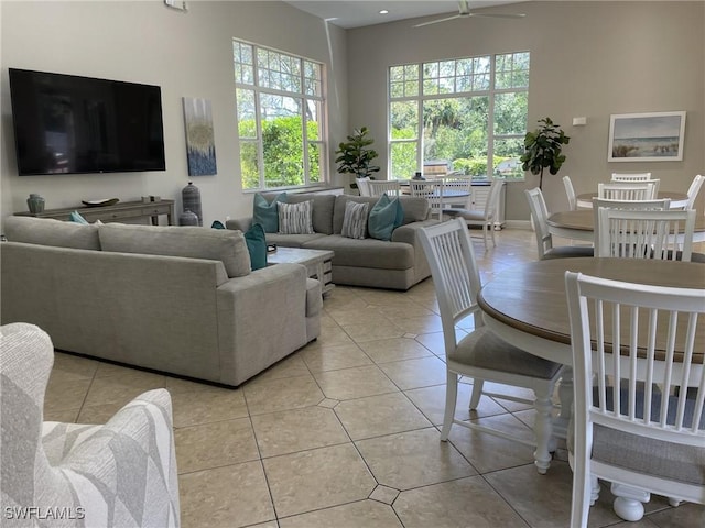
[[(705, 323), (705, 289), (571, 272), (565, 283), (575, 395), (571, 527), (587, 527), (598, 477), (612, 483), (612, 507), (626, 520), (643, 516), (650, 493), (673, 506), (705, 504), (705, 375), (693, 340)], [(676, 341), (683, 354), (673, 352)]]

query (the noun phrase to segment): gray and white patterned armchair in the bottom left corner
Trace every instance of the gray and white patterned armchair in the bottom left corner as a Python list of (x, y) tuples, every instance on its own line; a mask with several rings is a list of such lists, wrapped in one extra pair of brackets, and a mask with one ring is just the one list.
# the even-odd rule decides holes
[(53, 361), (39, 327), (0, 327), (0, 526), (178, 527), (169, 393), (142, 394), (105, 426), (44, 422)]

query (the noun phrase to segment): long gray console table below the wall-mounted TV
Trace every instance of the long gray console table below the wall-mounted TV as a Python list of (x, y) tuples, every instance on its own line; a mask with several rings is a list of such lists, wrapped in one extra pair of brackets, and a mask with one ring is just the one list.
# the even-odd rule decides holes
[(88, 222), (121, 222), (127, 219), (147, 218), (152, 226), (159, 224), (159, 217), (166, 215), (166, 222), (174, 226), (174, 200), (161, 201), (123, 201), (115, 206), (68, 207), (64, 209), (46, 209), (42, 212), (15, 212), (21, 217), (54, 218), (69, 220), (70, 213), (78, 211)]

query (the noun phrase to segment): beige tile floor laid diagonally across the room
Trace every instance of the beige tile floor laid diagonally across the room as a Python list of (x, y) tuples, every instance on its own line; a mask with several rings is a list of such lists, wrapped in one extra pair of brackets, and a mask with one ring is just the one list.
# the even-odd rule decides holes
[[(475, 244), (485, 282), (535, 258), (532, 232), (497, 235), (496, 249)], [(336, 287), (324, 311), (316, 342), (238, 389), (57, 353), (45, 419), (100, 424), (143, 391), (170, 389), (185, 528), (567, 526), (565, 451), (539, 475), (522, 444), (459, 427), (438, 440), (445, 370), (431, 279), (406, 293)], [(462, 384), (462, 419), (531, 436), (525, 406), (486, 398), (470, 414), (468, 400)], [(705, 526), (704, 506), (657, 496), (643, 520), (621, 522), (611, 498), (604, 485), (590, 527)]]

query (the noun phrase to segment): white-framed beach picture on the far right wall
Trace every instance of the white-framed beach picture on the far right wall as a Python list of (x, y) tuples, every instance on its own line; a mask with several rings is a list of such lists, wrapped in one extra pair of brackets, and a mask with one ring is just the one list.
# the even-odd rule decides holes
[(618, 113), (609, 120), (608, 162), (680, 162), (685, 111)]

